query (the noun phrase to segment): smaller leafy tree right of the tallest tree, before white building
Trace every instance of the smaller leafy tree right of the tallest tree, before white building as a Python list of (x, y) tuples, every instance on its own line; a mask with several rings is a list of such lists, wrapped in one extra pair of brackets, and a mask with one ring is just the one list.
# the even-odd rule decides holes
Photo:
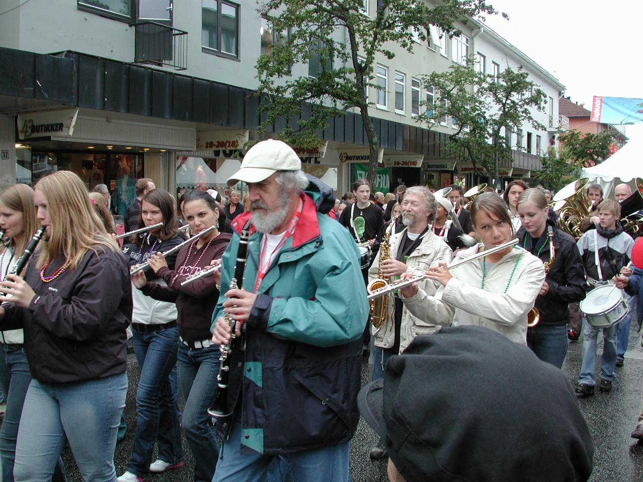
[(545, 126), (532, 116), (543, 111), (547, 95), (529, 80), (521, 68), (507, 67), (498, 77), (479, 73), (471, 66), (451, 66), (448, 71), (422, 76), (426, 88), (433, 88), (435, 102), (426, 105), (421, 123), (451, 122), (457, 129), (442, 146), (443, 152), (458, 159), (468, 159), (476, 170), (482, 166), (500, 188), (500, 164), (512, 162), (511, 136), (524, 123), (537, 130)]

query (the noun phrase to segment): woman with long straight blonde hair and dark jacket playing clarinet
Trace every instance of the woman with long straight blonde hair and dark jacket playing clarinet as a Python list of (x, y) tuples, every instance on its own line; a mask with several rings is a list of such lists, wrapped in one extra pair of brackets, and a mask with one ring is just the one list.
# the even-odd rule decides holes
[(24, 280), (8, 274), (0, 283), (12, 295), (0, 296), (10, 301), (0, 308), (0, 326), (23, 328), (33, 377), (18, 429), (14, 478), (51, 480), (67, 439), (84, 481), (113, 482), (127, 393), (127, 263), (73, 172), (42, 177), (33, 204), (44, 242)]

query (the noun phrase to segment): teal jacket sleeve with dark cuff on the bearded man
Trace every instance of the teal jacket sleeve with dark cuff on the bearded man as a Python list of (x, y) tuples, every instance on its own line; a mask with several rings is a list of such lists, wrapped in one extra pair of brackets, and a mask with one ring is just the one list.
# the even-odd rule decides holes
[[(354, 249), (357, 258), (356, 245), (343, 245), (345, 249)], [(367, 323), (368, 303), (357, 263), (341, 256), (334, 265), (319, 265), (311, 268), (310, 273), (307, 282), (316, 285), (313, 299), (257, 296), (255, 305), (260, 305), (263, 313), (259, 317), (250, 316), (248, 326), (321, 347), (359, 339)]]

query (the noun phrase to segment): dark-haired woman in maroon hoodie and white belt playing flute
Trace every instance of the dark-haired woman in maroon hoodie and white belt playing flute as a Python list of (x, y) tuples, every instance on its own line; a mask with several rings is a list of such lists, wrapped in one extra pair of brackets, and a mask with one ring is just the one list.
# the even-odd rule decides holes
[[(219, 209), (213, 197), (204, 191), (191, 191), (183, 197), (183, 216), (192, 233), (210, 226), (219, 227)], [(212, 312), (219, 299), (218, 276), (204, 276), (186, 285), (182, 283), (213, 260), (221, 259), (231, 235), (213, 229), (176, 256), (176, 269), (168, 267), (161, 254), (152, 254), (150, 269), (167, 286), (148, 282), (143, 272), (132, 276), (143, 294), (160, 301), (176, 302), (179, 317), (179, 383), (185, 399), (183, 431), (194, 454), (194, 479), (210, 481), (219, 456), (219, 444), (207, 409), (214, 398), (219, 373), (219, 346), (210, 339)], [(217, 273), (218, 274), (218, 273)]]

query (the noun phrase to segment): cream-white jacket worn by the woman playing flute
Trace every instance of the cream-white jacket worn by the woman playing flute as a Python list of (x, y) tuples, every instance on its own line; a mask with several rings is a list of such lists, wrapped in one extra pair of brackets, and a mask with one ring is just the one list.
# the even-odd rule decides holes
[[(480, 247), (482, 244), (460, 251), (454, 262), (477, 253)], [(527, 314), (545, 281), (541, 260), (514, 247), (491, 269), (487, 265), (484, 289), (480, 289), (482, 258), (458, 266), (451, 274), (453, 278), (440, 287), (435, 297), (418, 290), (415, 296), (403, 298), (404, 306), (427, 323), (448, 326), (453, 321), (453, 326), (485, 326), (511, 341), (527, 344)]]

